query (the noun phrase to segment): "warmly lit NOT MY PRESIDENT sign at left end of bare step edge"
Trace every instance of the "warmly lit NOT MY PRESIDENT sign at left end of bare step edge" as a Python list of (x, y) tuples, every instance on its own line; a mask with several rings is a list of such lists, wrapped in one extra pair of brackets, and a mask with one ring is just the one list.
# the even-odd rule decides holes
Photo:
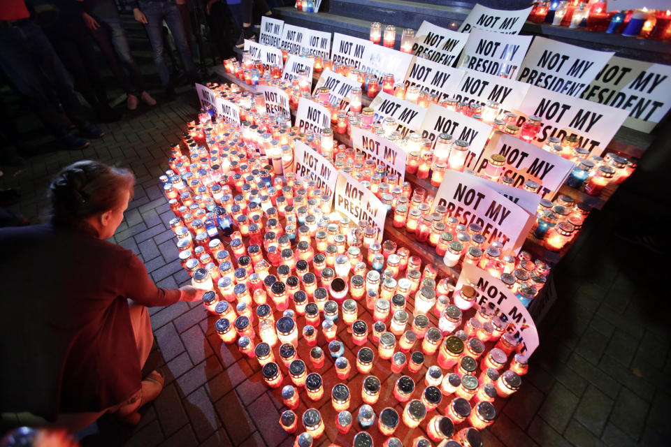
[(375, 194), (370, 192), (370, 189), (342, 171), (338, 173), (338, 183), (335, 184), (334, 209), (342, 212), (357, 224), (361, 221), (373, 222), (379, 230), (377, 239), (382, 241), (387, 207)]

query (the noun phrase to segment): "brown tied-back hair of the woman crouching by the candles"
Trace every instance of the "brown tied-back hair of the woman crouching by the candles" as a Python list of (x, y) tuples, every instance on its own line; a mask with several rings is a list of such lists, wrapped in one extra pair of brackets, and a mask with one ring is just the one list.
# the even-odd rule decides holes
[(50, 185), (52, 221), (57, 226), (86, 227), (85, 219), (122, 204), (126, 189), (133, 196), (135, 175), (93, 160), (66, 166)]

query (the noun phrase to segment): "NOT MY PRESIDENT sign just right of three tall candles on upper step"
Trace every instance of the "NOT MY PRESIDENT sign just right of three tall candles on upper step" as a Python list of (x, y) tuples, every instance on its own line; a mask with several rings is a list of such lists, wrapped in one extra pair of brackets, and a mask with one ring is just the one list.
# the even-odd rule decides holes
[(412, 54), (441, 65), (452, 66), (467, 40), (468, 36), (463, 33), (441, 28), (424, 20), (414, 35)]

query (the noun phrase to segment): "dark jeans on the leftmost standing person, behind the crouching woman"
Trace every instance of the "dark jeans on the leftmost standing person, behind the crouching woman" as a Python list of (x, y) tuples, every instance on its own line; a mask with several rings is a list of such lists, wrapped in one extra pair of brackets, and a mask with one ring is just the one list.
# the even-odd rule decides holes
[(74, 124), (89, 124), (70, 74), (40, 27), (32, 22), (0, 27), (0, 42), (0, 69), (46, 126), (59, 137), (68, 132), (59, 102)]

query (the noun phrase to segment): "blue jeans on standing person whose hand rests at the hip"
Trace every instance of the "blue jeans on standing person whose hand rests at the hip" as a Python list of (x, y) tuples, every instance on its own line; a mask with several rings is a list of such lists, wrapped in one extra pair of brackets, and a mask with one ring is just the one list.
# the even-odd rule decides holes
[(182, 15), (175, 3), (171, 1), (138, 1), (140, 10), (147, 17), (147, 34), (152, 43), (154, 52), (154, 64), (161, 77), (161, 83), (164, 87), (170, 87), (170, 70), (165, 59), (165, 41), (163, 38), (163, 21), (166, 21), (170, 29), (175, 45), (182, 58), (182, 64), (192, 81), (199, 80), (199, 74), (196, 73), (196, 66), (189, 50), (189, 41), (182, 24)]

